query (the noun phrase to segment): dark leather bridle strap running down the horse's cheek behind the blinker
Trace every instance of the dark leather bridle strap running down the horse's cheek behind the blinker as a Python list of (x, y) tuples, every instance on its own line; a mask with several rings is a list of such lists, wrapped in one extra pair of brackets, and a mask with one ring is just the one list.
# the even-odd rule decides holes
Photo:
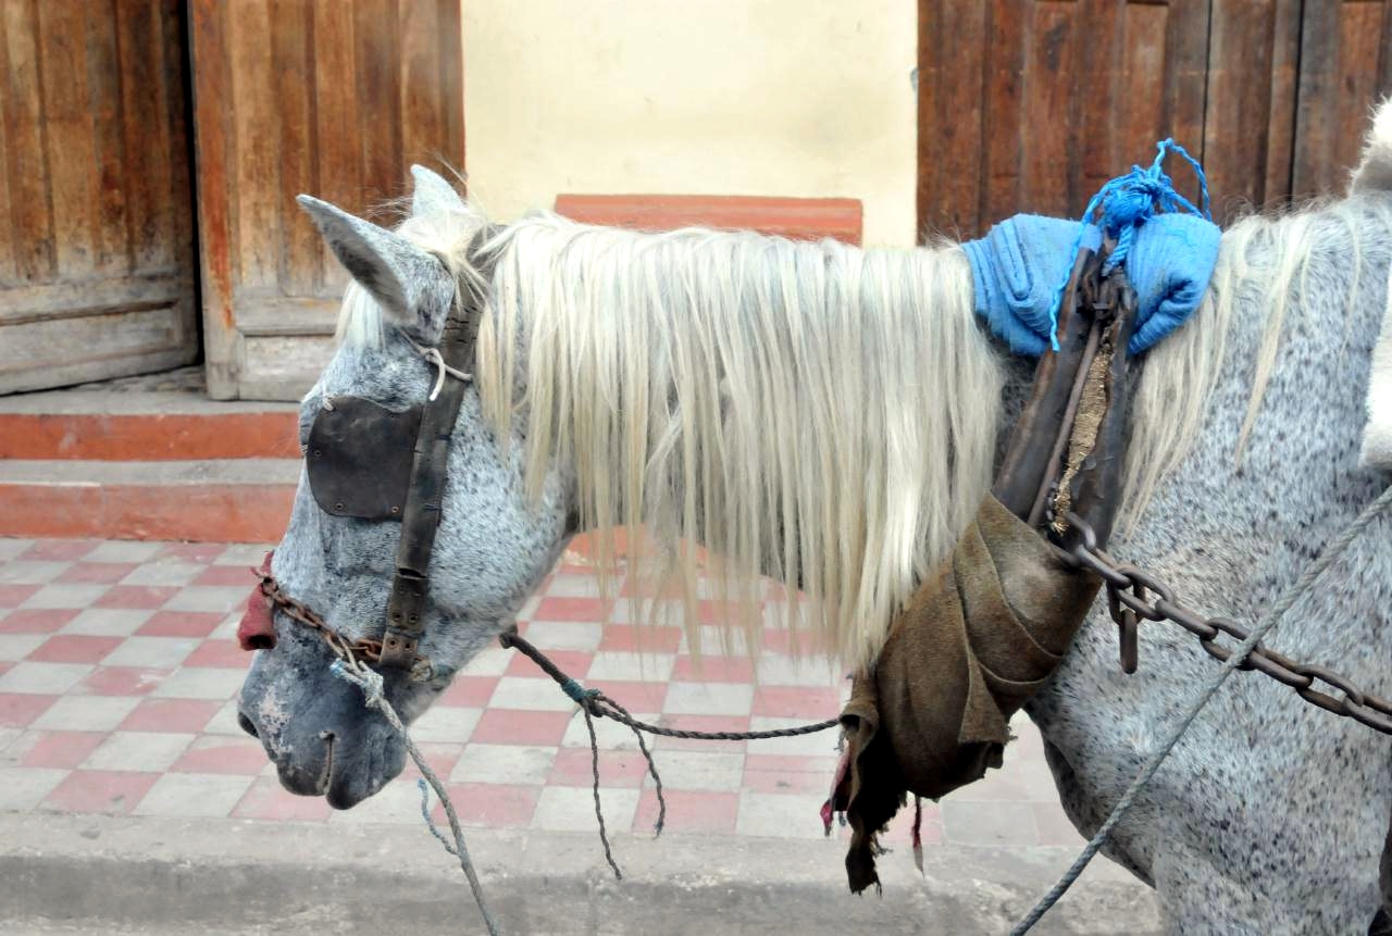
[[(461, 284), (440, 338), (441, 370), (468, 371), (483, 318), (482, 296), (469, 284)], [(397, 547), (397, 570), (387, 601), (387, 629), (381, 638), (381, 668), (411, 669), (425, 630), (426, 588), (430, 554), (440, 528), (440, 502), (450, 462), (450, 437), (464, 403), (465, 380), (445, 380), (430, 395), (420, 414), (411, 485), (401, 513), (401, 544)]]

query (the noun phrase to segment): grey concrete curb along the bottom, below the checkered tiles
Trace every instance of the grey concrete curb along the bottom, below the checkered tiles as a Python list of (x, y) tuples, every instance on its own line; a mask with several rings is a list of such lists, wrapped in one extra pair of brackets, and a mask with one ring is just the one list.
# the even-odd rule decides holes
[[(880, 860), (883, 896), (846, 890), (828, 840), (466, 830), (507, 933), (721, 936), (1004, 933), (1070, 848), (931, 846)], [(0, 814), (6, 933), (480, 933), (454, 858), (426, 830)], [(1037, 933), (1161, 932), (1148, 887), (1098, 858)]]

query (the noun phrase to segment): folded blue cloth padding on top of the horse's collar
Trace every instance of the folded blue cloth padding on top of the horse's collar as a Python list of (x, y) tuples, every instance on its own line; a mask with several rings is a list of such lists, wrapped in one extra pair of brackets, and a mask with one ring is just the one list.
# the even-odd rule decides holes
[[(1080, 224), (1016, 214), (962, 245), (972, 261), (976, 312), (1012, 352), (1038, 357), (1048, 349), (1050, 309), (1073, 268)], [(1140, 224), (1123, 261), (1139, 306), (1130, 353), (1154, 345), (1199, 307), (1219, 236), (1215, 224), (1194, 214), (1157, 214)], [(1100, 243), (1097, 225), (1084, 225), (1080, 246), (1096, 250)]]

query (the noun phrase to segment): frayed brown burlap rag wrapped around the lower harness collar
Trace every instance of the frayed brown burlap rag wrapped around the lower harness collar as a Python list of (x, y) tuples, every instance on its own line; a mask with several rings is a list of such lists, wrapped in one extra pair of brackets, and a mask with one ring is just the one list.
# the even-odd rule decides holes
[(1058, 666), (1100, 587), (1061, 555), (987, 497), (894, 623), (874, 672), (855, 680), (832, 797), (852, 828), (853, 891), (878, 886), (874, 837), (908, 793), (937, 798), (1001, 766), (1011, 715)]

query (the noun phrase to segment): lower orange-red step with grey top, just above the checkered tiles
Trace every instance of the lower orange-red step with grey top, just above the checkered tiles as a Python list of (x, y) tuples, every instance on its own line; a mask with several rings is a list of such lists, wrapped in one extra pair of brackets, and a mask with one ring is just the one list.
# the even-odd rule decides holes
[(274, 542), (298, 459), (0, 460), (0, 537)]

